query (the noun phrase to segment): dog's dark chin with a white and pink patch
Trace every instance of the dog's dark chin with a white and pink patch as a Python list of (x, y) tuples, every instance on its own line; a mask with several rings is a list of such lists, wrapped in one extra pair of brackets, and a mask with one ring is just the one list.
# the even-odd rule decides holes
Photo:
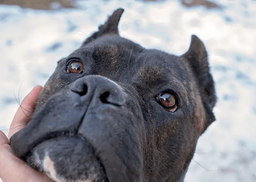
[(57, 182), (108, 182), (101, 159), (82, 138), (46, 140), (35, 146), (26, 160), (31, 167)]

